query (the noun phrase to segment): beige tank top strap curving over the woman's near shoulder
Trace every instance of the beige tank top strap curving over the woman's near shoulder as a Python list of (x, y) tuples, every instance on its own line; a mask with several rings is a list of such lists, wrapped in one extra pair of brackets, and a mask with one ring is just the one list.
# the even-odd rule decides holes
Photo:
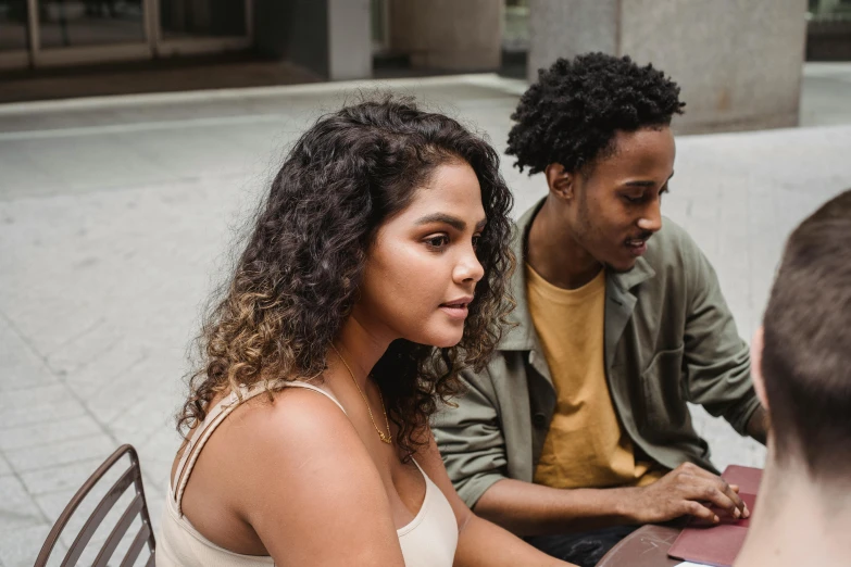
[(337, 407), (339, 407), (340, 411), (346, 414), (346, 410), (336, 398), (312, 383), (297, 380), (278, 379), (272, 380), (268, 383), (258, 382), (250, 387), (240, 386), (237, 391), (230, 392), (227, 398), (218, 402), (215, 407), (213, 407), (213, 410), (207, 414), (207, 417), (204, 417), (203, 421), (201, 421), (201, 424), (191, 433), (189, 433), (189, 437), (187, 438), (186, 449), (184, 449), (184, 453), (180, 456), (180, 461), (178, 462), (174, 477), (172, 478), (172, 493), (174, 495), (175, 503), (177, 504), (178, 514), (183, 516), (182, 502), (184, 497), (184, 491), (186, 490), (186, 484), (189, 482), (189, 476), (192, 474), (192, 468), (195, 467), (196, 461), (198, 461), (198, 455), (201, 453), (204, 444), (207, 444), (210, 436), (213, 434), (213, 431), (215, 431), (218, 425), (224, 421), (225, 418), (230, 415), (230, 413), (241, 403), (247, 402), (248, 400), (251, 400), (252, 398), (255, 398), (263, 392), (266, 392), (268, 389), (278, 387), (304, 388), (306, 390), (313, 390), (314, 392), (321, 393), (334, 402)]

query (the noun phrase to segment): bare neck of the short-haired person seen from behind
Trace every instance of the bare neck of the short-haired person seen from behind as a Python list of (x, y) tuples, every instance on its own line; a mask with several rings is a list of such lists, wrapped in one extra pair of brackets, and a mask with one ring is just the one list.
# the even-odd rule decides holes
[(771, 461), (736, 567), (839, 567), (851, 557), (849, 487), (814, 481)]

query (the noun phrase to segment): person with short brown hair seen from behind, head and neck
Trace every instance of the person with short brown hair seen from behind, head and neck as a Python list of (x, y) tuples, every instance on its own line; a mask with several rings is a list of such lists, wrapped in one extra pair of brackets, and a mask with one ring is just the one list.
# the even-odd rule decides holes
[(851, 563), (851, 190), (789, 237), (751, 342), (768, 455), (737, 567)]

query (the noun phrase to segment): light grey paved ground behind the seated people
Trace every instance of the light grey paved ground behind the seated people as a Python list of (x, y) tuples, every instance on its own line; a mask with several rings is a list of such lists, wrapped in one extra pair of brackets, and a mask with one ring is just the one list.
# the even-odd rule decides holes
[[(524, 85), (490, 75), (392, 87), (501, 150)], [(286, 148), (337, 85), (0, 105), (0, 567), (32, 565), (79, 483), (123, 442), (159, 517), (186, 348), (228, 247)], [(665, 212), (713, 261), (742, 337), (789, 230), (851, 187), (851, 66), (809, 66), (787, 130), (678, 139)], [(545, 193), (503, 164), (515, 214)], [(718, 466), (764, 450), (696, 411)]]

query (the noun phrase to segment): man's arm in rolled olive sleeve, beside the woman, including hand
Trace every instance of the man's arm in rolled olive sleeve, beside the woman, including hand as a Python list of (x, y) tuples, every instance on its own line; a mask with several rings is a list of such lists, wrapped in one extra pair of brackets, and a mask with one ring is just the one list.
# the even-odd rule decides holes
[(436, 414), (434, 431), (459, 495), (477, 515), (520, 536), (666, 521), (684, 514), (714, 519), (702, 502), (748, 516), (721, 478), (685, 464), (644, 488), (560, 490), (505, 475), (508, 458), (497, 398), (487, 370), (465, 370), (458, 407)]

